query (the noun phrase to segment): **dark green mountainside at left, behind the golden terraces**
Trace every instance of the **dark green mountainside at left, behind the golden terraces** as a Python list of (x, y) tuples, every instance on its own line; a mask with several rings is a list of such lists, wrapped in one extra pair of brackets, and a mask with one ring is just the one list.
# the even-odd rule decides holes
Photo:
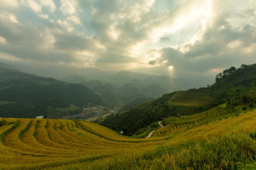
[(0, 67), (0, 117), (61, 117), (88, 104), (105, 104), (84, 85)]

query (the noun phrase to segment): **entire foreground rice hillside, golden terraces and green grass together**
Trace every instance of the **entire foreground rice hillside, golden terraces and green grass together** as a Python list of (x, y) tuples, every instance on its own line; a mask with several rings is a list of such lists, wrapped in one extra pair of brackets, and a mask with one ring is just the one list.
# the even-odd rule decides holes
[(90, 122), (4, 118), (0, 169), (238, 169), (256, 158), (256, 111), (227, 114), (168, 118), (149, 139)]

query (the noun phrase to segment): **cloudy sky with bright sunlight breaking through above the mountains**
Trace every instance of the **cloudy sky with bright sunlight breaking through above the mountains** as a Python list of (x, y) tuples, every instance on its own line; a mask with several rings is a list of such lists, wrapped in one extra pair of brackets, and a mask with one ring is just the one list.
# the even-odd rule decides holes
[(256, 1), (0, 0), (0, 60), (214, 76), (256, 63)]

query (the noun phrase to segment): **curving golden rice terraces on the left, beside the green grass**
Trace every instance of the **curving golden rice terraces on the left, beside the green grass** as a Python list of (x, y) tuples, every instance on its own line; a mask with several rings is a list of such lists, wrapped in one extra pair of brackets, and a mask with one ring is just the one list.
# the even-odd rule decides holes
[(0, 169), (47, 168), (150, 148), (154, 139), (129, 139), (89, 122), (4, 118)]

